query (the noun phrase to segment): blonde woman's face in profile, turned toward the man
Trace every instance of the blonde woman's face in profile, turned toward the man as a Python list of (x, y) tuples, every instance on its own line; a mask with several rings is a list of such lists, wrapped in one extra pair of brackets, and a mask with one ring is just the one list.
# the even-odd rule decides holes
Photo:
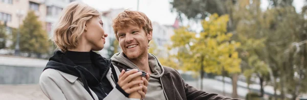
[(92, 51), (100, 51), (105, 43), (107, 34), (103, 30), (103, 22), (99, 16), (93, 17), (85, 24), (84, 39), (87, 45), (91, 46)]

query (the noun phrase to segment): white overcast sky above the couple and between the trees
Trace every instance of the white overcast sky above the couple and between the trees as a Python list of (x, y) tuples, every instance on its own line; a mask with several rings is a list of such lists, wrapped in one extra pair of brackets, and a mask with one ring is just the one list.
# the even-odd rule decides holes
[[(82, 0), (84, 3), (97, 8), (101, 11), (109, 9), (130, 9), (137, 10), (138, 0)], [(177, 17), (176, 12), (171, 12), (171, 0), (139, 0), (139, 11), (145, 13), (151, 21), (158, 22), (164, 25), (172, 25)], [(296, 7), (296, 12), (301, 11), (303, 1), (294, 0), (293, 5)], [(267, 0), (261, 0), (261, 8), (266, 9), (269, 5)]]

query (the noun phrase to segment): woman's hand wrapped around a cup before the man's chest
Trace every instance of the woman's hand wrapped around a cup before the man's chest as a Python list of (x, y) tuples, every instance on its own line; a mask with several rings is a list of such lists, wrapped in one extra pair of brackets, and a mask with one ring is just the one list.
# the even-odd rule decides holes
[[(125, 70), (122, 70), (121, 73), (119, 74), (118, 85), (128, 94), (139, 91), (139, 90), (142, 91), (144, 85), (141, 85), (139, 87), (133, 87), (133, 86), (138, 85), (138, 84), (144, 84), (143, 80), (131, 81), (132, 79), (141, 76), (141, 74), (142, 72), (138, 72), (138, 69), (132, 69), (127, 72), (125, 72)], [(148, 84), (148, 81), (147, 81), (147, 84)], [(133, 88), (130, 88), (130, 87), (133, 87)], [(146, 91), (147, 91), (147, 87), (146, 87)]]

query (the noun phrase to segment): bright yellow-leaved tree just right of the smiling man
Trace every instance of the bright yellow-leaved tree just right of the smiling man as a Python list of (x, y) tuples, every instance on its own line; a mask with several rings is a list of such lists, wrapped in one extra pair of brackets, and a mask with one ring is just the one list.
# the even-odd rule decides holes
[[(231, 33), (226, 33), (228, 15), (210, 16), (203, 20), (203, 32), (196, 37), (186, 27), (175, 30), (171, 37), (172, 47), (178, 47), (177, 58), (187, 70), (200, 71), (201, 89), (205, 72), (222, 74), (240, 72), (240, 62), (236, 48), (240, 43), (230, 40)], [(224, 79), (224, 78), (223, 78)]]

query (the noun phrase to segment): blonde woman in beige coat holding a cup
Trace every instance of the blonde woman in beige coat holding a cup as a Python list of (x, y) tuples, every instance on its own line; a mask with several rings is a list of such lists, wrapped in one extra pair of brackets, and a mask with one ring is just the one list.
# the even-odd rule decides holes
[(144, 98), (148, 74), (147, 79), (131, 81), (142, 72), (136, 69), (120, 72), (110, 60), (93, 52), (103, 48), (107, 37), (100, 15), (81, 2), (73, 2), (63, 9), (53, 37), (60, 51), (49, 59), (39, 80), (48, 98), (129, 99), (133, 92), (139, 92)]

